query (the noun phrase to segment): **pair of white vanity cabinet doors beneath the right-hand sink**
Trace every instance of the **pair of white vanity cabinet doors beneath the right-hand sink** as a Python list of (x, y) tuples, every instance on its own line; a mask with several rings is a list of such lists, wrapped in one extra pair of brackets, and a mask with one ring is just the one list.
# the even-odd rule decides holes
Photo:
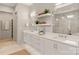
[(75, 55), (76, 48), (48, 39), (40, 39), (40, 52), (49, 55)]

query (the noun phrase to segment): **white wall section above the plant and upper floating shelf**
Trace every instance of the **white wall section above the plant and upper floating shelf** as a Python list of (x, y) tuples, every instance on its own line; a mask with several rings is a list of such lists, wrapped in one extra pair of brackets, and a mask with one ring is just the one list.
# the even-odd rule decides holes
[(54, 11), (54, 3), (34, 3), (32, 5), (32, 10), (35, 10), (37, 13), (43, 12), (45, 9), (49, 9), (52, 13)]

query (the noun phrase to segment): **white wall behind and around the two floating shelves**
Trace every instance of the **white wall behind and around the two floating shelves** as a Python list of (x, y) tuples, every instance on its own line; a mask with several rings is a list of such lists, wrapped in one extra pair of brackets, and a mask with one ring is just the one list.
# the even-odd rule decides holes
[[(31, 6), (31, 12), (35, 12), (36, 13), (36, 17), (31, 17), (31, 24), (35, 25), (35, 21), (38, 20), (37, 15), (39, 13), (43, 13), (45, 9), (48, 9), (50, 11), (50, 13), (53, 13), (54, 12), (54, 7), (55, 7), (54, 3), (34, 3)], [(39, 18), (39, 20), (45, 20), (45, 21), (47, 21), (48, 24), (52, 24), (54, 18), (53, 17), (46, 17), (46, 18)], [(49, 26), (45, 27), (46, 28), (46, 32), (51, 32), (52, 30), (50, 30), (50, 29), (52, 27), (49, 27)], [(31, 30), (36, 31), (37, 27), (36, 26), (32, 26)]]

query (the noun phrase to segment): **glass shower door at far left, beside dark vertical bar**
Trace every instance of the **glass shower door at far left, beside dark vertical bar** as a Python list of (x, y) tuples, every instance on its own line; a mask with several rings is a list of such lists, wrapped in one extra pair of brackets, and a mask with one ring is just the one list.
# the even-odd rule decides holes
[(11, 20), (0, 20), (0, 39), (11, 39), (12, 36)]

